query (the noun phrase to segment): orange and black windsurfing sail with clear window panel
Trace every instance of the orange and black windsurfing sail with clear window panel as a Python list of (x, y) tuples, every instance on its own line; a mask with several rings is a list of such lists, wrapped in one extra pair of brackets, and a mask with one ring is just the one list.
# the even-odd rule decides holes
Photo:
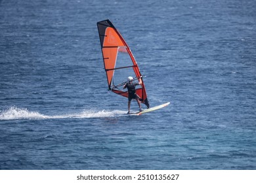
[(142, 103), (149, 108), (142, 75), (129, 46), (110, 20), (98, 22), (97, 26), (108, 89), (118, 95), (128, 97), (128, 92), (123, 90), (127, 77), (133, 76), (135, 80), (141, 78), (142, 84), (137, 88), (136, 93), (142, 99)]

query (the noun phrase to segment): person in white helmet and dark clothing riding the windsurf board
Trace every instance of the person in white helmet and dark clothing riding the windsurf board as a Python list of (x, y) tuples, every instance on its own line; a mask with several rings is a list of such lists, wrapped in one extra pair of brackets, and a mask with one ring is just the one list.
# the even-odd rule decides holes
[(128, 96), (128, 112), (127, 114), (130, 114), (130, 107), (131, 107), (131, 100), (135, 99), (139, 105), (140, 111), (142, 111), (141, 105), (140, 105), (140, 97), (137, 95), (135, 87), (137, 85), (142, 84), (141, 79), (139, 78), (139, 83), (138, 82), (133, 82), (133, 77), (129, 76), (127, 78), (127, 82), (125, 83), (125, 86), (123, 86), (123, 89), (127, 88), (129, 96)]

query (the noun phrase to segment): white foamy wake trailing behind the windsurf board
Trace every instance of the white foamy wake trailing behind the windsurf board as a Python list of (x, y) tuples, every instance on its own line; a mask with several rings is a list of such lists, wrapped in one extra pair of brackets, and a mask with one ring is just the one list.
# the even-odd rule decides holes
[(45, 115), (39, 112), (33, 112), (27, 108), (11, 107), (7, 110), (0, 111), (0, 120), (22, 120), (22, 119), (58, 119), (58, 118), (106, 118), (121, 116), (125, 114), (122, 110), (84, 110), (77, 114), (65, 114), (65, 115)]

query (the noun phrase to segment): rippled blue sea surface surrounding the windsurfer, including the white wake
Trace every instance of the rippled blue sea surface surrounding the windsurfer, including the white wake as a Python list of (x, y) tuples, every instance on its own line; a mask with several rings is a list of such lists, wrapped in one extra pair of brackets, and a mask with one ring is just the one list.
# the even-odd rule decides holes
[[(255, 170), (255, 10), (254, 0), (0, 0), (0, 169)], [(103, 69), (106, 19), (150, 105), (171, 105), (125, 115)]]

